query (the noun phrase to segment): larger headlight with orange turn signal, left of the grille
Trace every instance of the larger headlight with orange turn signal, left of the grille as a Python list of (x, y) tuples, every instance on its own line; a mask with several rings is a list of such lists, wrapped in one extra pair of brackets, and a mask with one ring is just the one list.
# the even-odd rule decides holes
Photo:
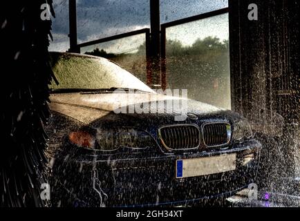
[(107, 128), (94, 131), (77, 131), (69, 135), (77, 146), (100, 151), (115, 151), (118, 148), (143, 149), (153, 145), (153, 138), (146, 131), (135, 128)]

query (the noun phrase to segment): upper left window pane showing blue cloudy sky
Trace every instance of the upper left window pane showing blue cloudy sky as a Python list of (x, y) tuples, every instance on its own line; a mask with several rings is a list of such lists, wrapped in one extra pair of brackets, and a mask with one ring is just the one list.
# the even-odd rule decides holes
[(149, 28), (149, 0), (77, 0), (78, 43)]

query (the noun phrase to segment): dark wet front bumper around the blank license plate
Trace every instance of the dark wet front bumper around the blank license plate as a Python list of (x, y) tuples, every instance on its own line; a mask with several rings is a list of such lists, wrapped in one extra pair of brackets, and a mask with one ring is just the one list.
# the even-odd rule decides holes
[[(53, 169), (53, 198), (63, 206), (174, 206), (229, 197), (255, 181), (260, 151), (261, 144), (252, 140), (228, 150), (186, 155), (68, 159), (57, 162), (59, 169)], [(176, 160), (230, 153), (236, 153), (234, 171), (176, 179)], [(249, 154), (254, 160), (243, 165), (244, 156)]]

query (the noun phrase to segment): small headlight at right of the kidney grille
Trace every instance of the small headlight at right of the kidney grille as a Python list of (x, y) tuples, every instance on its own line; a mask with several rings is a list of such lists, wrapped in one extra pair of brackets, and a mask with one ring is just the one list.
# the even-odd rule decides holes
[(243, 142), (243, 140), (252, 137), (252, 128), (246, 119), (240, 119), (234, 123), (234, 130), (232, 132), (232, 140), (234, 140), (234, 142)]

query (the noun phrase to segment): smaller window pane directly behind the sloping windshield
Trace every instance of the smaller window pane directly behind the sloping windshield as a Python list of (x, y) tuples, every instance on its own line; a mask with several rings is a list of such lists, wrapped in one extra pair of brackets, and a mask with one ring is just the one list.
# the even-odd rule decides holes
[(133, 35), (81, 48), (81, 53), (106, 57), (146, 82), (146, 34)]

